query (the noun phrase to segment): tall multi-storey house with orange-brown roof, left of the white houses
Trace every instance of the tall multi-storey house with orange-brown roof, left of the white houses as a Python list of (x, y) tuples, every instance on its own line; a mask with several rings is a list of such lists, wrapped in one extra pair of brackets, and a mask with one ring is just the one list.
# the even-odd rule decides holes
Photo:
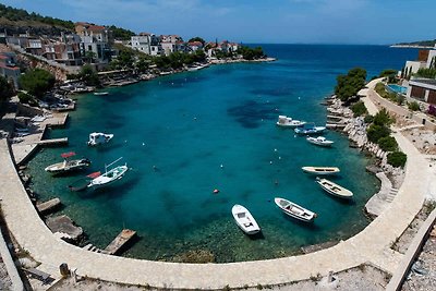
[[(107, 63), (111, 57), (112, 33), (105, 26), (77, 22), (75, 32), (81, 37), (81, 54), (98, 63)], [(93, 52), (93, 53), (89, 53)]]

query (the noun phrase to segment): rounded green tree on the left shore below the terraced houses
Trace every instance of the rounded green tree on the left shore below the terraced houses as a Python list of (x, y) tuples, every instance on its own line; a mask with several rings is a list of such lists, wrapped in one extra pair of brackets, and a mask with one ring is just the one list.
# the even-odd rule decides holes
[(19, 82), (28, 94), (40, 98), (55, 86), (56, 78), (46, 70), (33, 69), (21, 75)]

